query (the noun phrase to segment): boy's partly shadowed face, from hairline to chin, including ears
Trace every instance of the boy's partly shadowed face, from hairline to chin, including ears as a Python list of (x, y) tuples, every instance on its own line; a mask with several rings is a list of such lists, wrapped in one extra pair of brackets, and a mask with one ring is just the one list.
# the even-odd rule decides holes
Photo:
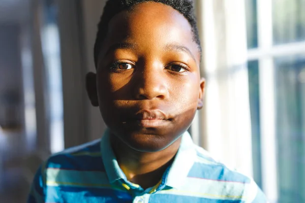
[(137, 151), (160, 151), (202, 107), (199, 63), (187, 19), (169, 6), (143, 3), (111, 19), (96, 83), (89, 74), (87, 90), (112, 136)]

